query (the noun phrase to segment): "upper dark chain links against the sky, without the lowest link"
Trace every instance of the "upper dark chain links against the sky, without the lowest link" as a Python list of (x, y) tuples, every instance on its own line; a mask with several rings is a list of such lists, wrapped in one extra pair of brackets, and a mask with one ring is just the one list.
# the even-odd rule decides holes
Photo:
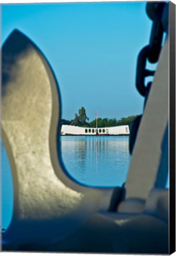
[(137, 72), (136, 72), (136, 87), (142, 96), (148, 94), (152, 82), (145, 85), (145, 78), (155, 75), (155, 71), (146, 69), (147, 60), (150, 63), (156, 63), (159, 59), (159, 54), (162, 47), (162, 38), (164, 31), (167, 29), (163, 24), (163, 13), (165, 2), (148, 2), (146, 5), (146, 12), (153, 21), (151, 38), (149, 44), (140, 51), (137, 57)]

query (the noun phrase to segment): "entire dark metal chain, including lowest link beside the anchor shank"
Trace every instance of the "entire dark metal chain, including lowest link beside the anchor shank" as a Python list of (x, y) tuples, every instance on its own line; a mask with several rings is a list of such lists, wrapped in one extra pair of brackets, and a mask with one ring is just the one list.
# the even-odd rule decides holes
[[(146, 12), (153, 21), (151, 38), (148, 46), (143, 47), (137, 58), (137, 73), (136, 73), (136, 87), (141, 95), (145, 96), (146, 104), (148, 94), (152, 82), (145, 85), (145, 78), (147, 76), (155, 75), (155, 71), (146, 69), (147, 61), (156, 63), (159, 59), (159, 54), (162, 47), (162, 37), (164, 31), (168, 31), (168, 4), (165, 2), (148, 2), (146, 5)], [(132, 128), (130, 130), (129, 151), (130, 155), (133, 153), (137, 131), (142, 120), (142, 115), (133, 120)]]

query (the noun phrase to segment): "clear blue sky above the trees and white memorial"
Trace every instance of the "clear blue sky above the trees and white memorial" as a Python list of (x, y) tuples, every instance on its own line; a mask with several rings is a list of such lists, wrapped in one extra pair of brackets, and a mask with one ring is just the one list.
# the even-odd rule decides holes
[(142, 113), (135, 88), (136, 59), (149, 43), (146, 2), (2, 5), (2, 43), (14, 28), (25, 33), (52, 66), (62, 118), (84, 106), (90, 120)]

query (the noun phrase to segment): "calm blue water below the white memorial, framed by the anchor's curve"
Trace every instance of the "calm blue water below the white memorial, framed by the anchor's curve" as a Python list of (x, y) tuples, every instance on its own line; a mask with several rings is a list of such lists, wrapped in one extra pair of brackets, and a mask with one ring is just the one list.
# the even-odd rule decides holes
[(79, 182), (109, 187), (126, 180), (129, 137), (62, 136), (61, 147), (66, 169)]

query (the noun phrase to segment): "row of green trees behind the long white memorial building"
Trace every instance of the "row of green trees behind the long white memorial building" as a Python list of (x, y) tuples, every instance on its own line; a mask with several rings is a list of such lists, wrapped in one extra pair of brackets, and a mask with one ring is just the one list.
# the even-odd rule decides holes
[[(97, 126), (98, 127), (111, 127), (111, 126), (122, 126), (122, 125), (129, 125), (129, 128), (132, 126), (133, 120), (137, 117), (135, 116), (129, 116), (129, 117), (121, 117), (120, 120), (114, 119), (108, 119), (101, 117), (98, 117), (97, 119)], [(86, 110), (84, 107), (79, 108), (78, 114), (75, 114), (75, 118), (73, 120), (61, 120), (61, 124), (68, 124), (73, 126), (80, 126), (80, 127), (96, 127), (96, 119), (89, 121), (89, 118), (87, 117)]]

